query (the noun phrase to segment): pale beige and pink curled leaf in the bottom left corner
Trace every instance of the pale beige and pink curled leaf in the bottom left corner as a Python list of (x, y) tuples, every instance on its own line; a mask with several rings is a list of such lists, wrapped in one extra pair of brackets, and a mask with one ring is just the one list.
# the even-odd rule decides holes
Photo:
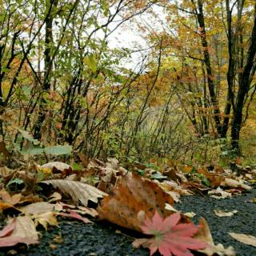
[(10, 229), (10, 226), (12, 228), (14, 224), (11, 233), (9, 232), (9, 235), (0, 238), (0, 247), (15, 246), (18, 243), (25, 243), (26, 245), (38, 243), (38, 232), (31, 218), (26, 216), (11, 218), (5, 229)]

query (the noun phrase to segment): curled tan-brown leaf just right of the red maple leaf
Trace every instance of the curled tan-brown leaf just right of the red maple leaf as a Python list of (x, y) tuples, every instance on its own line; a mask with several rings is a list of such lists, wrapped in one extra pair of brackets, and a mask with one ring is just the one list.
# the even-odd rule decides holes
[(214, 244), (214, 239), (210, 233), (210, 228), (204, 218), (200, 218), (198, 226), (199, 230), (198, 233), (195, 234), (194, 238), (197, 238), (202, 242), (206, 242), (206, 244), (209, 245), (203, 250), (198, 250), (199, 252), (202, 252), (207, 256), (212, 256), (214, 254), (218, 254), (219, 256), (235, 256), (235, 251), (232, 246), (224, 248), (224, 246), (220, 243), (218, 245)]

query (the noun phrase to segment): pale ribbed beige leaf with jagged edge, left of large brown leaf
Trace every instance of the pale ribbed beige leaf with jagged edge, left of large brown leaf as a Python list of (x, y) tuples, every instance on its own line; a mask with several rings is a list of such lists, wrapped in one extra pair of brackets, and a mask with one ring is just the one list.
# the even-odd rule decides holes
[(63, 194), (69, 194), (74, 202), (82, 202), (83, 206), (87, 206), (88, 200), (97, 203), (98, 198), (107, 195), (105, 192), (98, 190), (94, 186), (90, 186), (83, 182), (75, 182), (65, 179), (48, 180), (42, 183), (50, 184), (54, 188), (58, 188)]

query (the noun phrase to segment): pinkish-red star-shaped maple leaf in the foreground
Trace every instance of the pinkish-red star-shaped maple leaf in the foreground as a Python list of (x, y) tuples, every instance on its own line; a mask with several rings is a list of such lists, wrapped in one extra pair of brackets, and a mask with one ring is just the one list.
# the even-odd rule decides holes
[(152, 221), (146, 218), (141, 226), (143, 233), (153, 235), (153, 238), (137, 239), (133, 245), (148, 247), (150, 255), (159, 250), (163, 256), (193, 256), (189, 249), (206, 248), (206, 243), (193, 238), (198, 232), (198, 226), (194, 223), (178, 224), (180, 218), (181, 215), (176, 213), (164, 219), (156, 211)]

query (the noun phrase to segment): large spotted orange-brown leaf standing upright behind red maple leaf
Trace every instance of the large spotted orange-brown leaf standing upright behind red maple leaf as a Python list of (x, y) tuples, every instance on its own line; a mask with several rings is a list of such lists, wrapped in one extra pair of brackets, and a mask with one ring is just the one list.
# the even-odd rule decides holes
[(102, 199), (97, 210), (99, 218), (141, 231), (144, 219), (153, 218), (156, 210), (164, 218), (170, 215), (170, 210), (165, 209), (166, 203), (173, 205), (174, 199), (158, 184), (131, 174), (121, 178), (110, 195)]

